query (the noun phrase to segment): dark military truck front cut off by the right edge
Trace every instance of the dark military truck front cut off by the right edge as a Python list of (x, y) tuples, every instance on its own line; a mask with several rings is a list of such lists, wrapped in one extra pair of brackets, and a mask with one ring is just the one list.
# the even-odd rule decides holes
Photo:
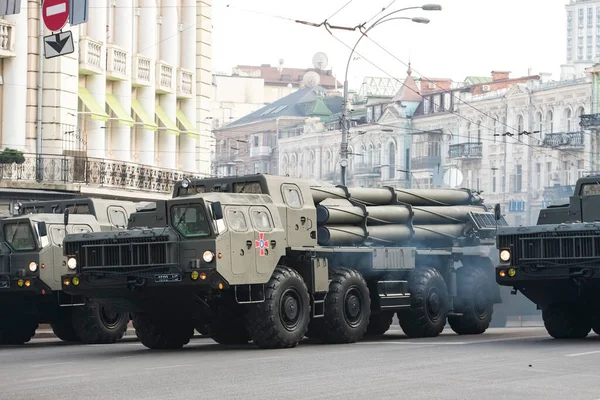
[(537, 225), (498, 229), (496, 281), (542, 310), (556, 339), (600, 334), (600, 176), (580, 178), (568, 202)]

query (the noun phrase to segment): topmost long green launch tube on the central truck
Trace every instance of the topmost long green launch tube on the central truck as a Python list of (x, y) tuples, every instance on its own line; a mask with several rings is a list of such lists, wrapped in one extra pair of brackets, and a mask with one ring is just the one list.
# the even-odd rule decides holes
[[(349, 199), (364, 205), (390, 205), (394, 194), (385, 188), (347, 188)], [(411, 206), (459, 206), (481, 204), (482, 199), (467, 189), (394, 189), (401, 203)], [(325, 199), (348, 199), (341, 187), (312, 186), (315, 204)]]

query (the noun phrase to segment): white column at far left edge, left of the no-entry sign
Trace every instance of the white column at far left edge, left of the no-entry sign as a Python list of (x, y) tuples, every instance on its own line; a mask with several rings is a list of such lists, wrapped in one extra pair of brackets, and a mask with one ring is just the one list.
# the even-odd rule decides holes
[(2, 90), (2, 149), (26, 149), (27, 117), (27, 1), (21, 2), (21, 12), (7, 15), (14, 23), (12, 36), (16, 56), (4, 59)]

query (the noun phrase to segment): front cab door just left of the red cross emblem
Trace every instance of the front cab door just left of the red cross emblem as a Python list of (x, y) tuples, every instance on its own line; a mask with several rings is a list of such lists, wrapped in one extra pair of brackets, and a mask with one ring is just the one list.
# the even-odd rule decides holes
[(254, 233), (248, 221), (248, 208), (225, 207), (225, 220), (231, 240), (231, 272), (234, 275), (242, 275), (247, 273), (249, 268), (254, 269), (256, 266)]

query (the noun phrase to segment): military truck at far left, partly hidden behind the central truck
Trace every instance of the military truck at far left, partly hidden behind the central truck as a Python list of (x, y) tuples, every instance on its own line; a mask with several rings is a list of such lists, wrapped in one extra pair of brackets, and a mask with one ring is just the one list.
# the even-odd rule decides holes
[(135, 206), (99, 199), (29, 202), (17, 210), (21, 215), (0, 220), (0, 344), (28, 342), (39, 323), (70, 342), (111, 343), (123, 336), (129, 314), (62, 291), (61, 276), (69, 270), (62, 241), (66, 233), (123, 229), (120, 213), (126, 224)]

